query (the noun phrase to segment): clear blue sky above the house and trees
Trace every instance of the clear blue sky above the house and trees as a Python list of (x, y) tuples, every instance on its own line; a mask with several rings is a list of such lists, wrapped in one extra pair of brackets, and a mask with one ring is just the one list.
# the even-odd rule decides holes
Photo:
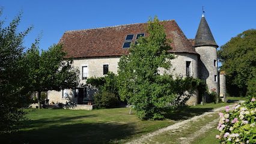
[(231, 37), (251, 28), (256, 28), (256, 1), (1, 1), (4, 7), (1, 19), (12, 20), (23, 11), (19, 30), (34, 25), (25, 38), (24, 45), (30, 47), (43, 31), (40, 49), (46, 50), (58, 43), (62, 34), (69, 30), (99, 28), (147, 22), (148, 17), (160, 20), (174, 19), (187, 38), (195, 38), (202, 16), (210, 26), (219, 46)]

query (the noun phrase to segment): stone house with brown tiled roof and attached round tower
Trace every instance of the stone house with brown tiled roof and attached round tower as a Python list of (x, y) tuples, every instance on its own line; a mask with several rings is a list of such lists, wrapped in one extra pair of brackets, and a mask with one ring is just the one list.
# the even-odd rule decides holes
[[(74, 58), (74, 65), (81, 71), (81, 83), (88, 77), (103, 77), (108, 71), (117, 74), (118, 62), (123, 54), (128, 54), (130, 43), (139, 36), (147, 37), (144, 27), (147, 23), (109, 26), (103, 28), (66, 31), (58, 44), (64, 44), (68, 56)], [(165, 21), (168, 39), (172, 39), (172, 50), (176, 59), (172, 60), (169, 73), (179, 76), (193, 76), (206, 81), (209, 89), (219, 93), (217, 47), (204, 15), (201, 18), (195, 39), (187, 39), (175, 20)], [(161, 71), (160, 71), (161, 73)], [(55, 103), (66, 103), (72, 98), (76, 104), (85, 104), (93, 98), (95, 89), (91, 87), (63, 89), (61, 92), (48, 91), (47, 98)], [(84, 102), (83, 102), (84, 101)], [(187, 104), (200, 103), (195, 92)]]

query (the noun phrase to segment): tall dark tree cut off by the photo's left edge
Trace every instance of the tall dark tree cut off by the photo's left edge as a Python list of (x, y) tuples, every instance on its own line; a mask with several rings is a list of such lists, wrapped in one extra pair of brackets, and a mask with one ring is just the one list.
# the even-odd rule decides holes
[(22, 85), (26, 74), (22, 66), (25, 47), (22, 44), (32, 27), (18, 32), (21, 14), (6, 27), (0, 20), (0, 133), (16, 130), (19, 121), (25, 119), (26, 112), (21, 109), (26, 107), (26, 92)]

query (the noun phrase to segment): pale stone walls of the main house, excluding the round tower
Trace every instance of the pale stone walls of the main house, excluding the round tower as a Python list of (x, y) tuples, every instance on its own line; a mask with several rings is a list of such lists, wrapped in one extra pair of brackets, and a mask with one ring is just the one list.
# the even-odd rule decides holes
[[(195, 53), (175, 53), (177, 58), (171, 60), (172, 70), (167, 71), (167, 73), (172, 74), (174, 76), (183, 76), (186, 77), (186, 61), (190, 61), (190, 73), (191, 76), (197, 78), (198, 77), (198, 55)], [(109, 71), (117, 74), (118, 70), (118, 62), (120, 61), (120, 57), (99, 57), (99, 58), (79, 58), (74, 59), (75, 67), (79, 68), (82, 71), (82, 66), (88, 67), (88, 77), (103, 77), (103, 65), (109, 65)], [(163, 73), (162, 68), (159, 68), (159, 73)], [(82, 80), (82, 74), (80, 76), (81, 83), (86, 83), (87, 80)], [(48, 99), (49, 103), (63, 103), (66, 104), (69, 101), (75, 101), (78, 103), (78, 99), (74, 97), (74, 91), (69, 90), (69, 96), (67, 98), (62, 97), (62, 91), (48, 91)], [(91, 86), (87, 87), (87, 98), (92, 98), (94, 94), (97, 93), (97, 89)], [(189, 104), (198, 103), (198, 92), (195, 92), (194, 97), (190, 98), (188, 101)]]

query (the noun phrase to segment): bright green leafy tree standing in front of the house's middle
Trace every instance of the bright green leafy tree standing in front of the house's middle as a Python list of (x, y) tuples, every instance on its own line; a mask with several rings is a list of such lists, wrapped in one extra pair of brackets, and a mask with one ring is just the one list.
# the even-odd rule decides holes
[(148, 37), (133, 43), (130, 54), (118, 63), (120, 97), (133, 104), (139, 118), (162, 119), (165, 112), (186, 103), (192, 95), (192, 77), (174, 80), (171, 75), (159, 74), (159, 67), (169, 70), (170, 60), (175, 58), (168, 52), (171, 41), (166, 39), (163, 25), (157, 16), (148, 20)]

